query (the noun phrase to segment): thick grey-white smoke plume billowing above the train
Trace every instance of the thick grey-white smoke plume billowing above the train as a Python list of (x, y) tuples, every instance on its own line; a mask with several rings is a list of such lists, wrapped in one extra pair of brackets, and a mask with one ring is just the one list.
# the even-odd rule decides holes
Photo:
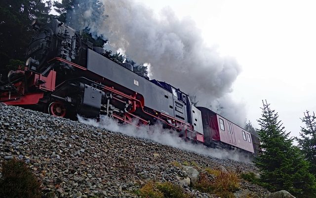
[(91, 33), (107, 38), (113, 48), (122, 49), (134, 61), (150, 63), (151, 78), (197, 96), (199, 106), (211, 107), (243, 124), (244, 105), (228, 95), (241, 68), (235, 58), (222, 57), (215, 47), (207, 47), (191, 18), (179, 19), (170, 8), (155, 15), (134, 0), (77, 2), (69, 17), (71, 26), (88, 27)]

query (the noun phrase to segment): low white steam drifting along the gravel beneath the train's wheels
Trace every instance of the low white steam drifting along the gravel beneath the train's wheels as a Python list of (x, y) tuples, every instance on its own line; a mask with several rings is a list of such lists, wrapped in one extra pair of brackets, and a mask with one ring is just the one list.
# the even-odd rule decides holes
[(236, 150), (228, 151), (223, 149), (208, 148), (202, 144), (186, 142), (183, 138), (177, 136), (177, 132), (170, 133), (170, 131), (162, 129), (162, 126), (159, 124), (138, 128), (129, 124), (118, 124), (116, 120), (105, 115), (101, 115), (99, 121), (95, 119), (86, 119), (78, 115), (78, 120), (84, 124), (104, 128), (112, 132), (122, 133), (131, 137), (153, 140), (154, 142), (160, 143), (162, 145), (193, 151), (206, 156), (250, 162), (249, 158), (240, 154)]

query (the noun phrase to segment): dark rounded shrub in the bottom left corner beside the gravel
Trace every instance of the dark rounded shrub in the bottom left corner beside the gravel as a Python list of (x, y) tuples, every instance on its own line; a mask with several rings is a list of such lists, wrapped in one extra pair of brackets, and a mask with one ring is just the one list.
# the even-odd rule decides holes
[(24, 161), (2, 162), (1, 198), (40, 198), (40, 183)]

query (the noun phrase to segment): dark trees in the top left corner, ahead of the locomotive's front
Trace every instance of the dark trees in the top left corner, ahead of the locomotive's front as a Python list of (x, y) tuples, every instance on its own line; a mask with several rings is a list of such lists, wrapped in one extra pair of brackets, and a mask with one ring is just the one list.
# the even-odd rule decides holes
[[(35, 18), (47, 21), (52, 2), (39, 0), (0, 1), (0, 69), (15, 66), (25, 59), (25, 49), (34, 34), (31, 22)], [(10, 61), (11, 60), (11, 61)], [(13, 64), (13, 65), (12, 65)]]

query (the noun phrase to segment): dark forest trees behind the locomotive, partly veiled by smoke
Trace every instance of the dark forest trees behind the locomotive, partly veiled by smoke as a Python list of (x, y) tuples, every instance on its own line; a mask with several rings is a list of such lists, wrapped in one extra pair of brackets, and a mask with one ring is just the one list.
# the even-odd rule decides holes
[[(72, 16), (76, 0), (1, 0), (0, 1), (0, 74), (17, 69), (26, 59), (25, 51), (32, 35), (35, 33), (31, 22), (37, 18), (47, 23), (52, 19), (66, 22)], [(96, 4), (96, 6), (101, 6)], [(58, 14), (52, 15), (54, 9)], [(77, 13), (82, 14), (82, 13)], [(103, 47), (107, 42), (103, 37), (92, 38), (89, 29), (82, 30), (82, 37), (96, 47)], [(119, 53), (113, 57), (120, 56)], [(125, 57), (123, 57), (124, 60)], [(147, 67), (129, 60), (134, 70), (147, 77)], [(5, 76), (5, 75), (2, 75)], [(1, 79), (0, 79), (1, 80)]]

